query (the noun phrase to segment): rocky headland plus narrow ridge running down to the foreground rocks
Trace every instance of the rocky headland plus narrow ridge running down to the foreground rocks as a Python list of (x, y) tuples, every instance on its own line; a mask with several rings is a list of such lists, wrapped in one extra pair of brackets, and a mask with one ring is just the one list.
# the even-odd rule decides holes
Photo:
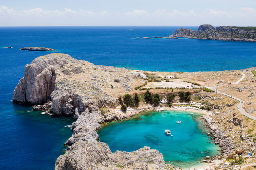
[(145, 146), (134, 152), (111, 153), (107, 144), (97, 142), (96, 130), (101, 123), (138, 114), (100, 111), (101, 107), (115, 108), (115, 94), (129, 91), (136, 80), (137, 75), (123, 68), (96, 66), (67, 54), (49, 54), (25, 66), (13, 101), (43, 104), (34, 108), (47, 108), (56, 115), (74, 115), (74, 133), (65, 143), (67, 152), (55, 163), (56, 170), (173, 168), (164, 163), (158, 150)]

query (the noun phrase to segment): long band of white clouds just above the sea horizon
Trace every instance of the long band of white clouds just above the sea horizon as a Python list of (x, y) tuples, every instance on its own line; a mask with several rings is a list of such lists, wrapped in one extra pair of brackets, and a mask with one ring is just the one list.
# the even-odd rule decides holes
[[(251, 25), (256, 23), (256, 10), (243, 7), (236, 13), (216, 9), (181, 11), (157, 9), (147, 12), (142, 9), (123, 13), (103, 11), (44, 10), (42, 8), (15, 10), (0, 7), (0, 26), (32, 25)], [(26, 18), (26, 20), (24, 20)]]

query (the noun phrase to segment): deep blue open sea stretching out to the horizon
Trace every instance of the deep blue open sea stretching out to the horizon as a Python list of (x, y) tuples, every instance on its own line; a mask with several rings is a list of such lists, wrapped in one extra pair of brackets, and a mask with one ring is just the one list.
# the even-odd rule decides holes
[[(52, 117), (12, 103), (24, 66), (49, 53), (97, 65), (151, 71), (219, 71), (256, 66), (255, 42), (135, 39), (167, 36), (181, 26), (0, 27), (0, 169), (54, 169), (72, 135), (72, 118)], [(127, 29), (136, 29), (128, 31)], [(186, 26), (197, 30), (197, 26)], [(4, 48), (11, 46), (12, 48)], [(21, 51), (22, 47), (56, 51)]]

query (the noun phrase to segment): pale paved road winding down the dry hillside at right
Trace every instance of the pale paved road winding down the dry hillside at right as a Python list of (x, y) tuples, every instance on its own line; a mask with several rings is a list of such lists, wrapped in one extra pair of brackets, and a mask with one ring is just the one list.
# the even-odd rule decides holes
[[(242, 73), (242, 75), (243, 75), (243, 76), (242, 76), (238, 81), (236, 81), (236, 82), (233, 83), (233, 84), (238, 84), (241, 80), (243, 80), (243, 79), (245, 78), (245, 74)], [(224, 85), (227, 85), (227, 84), (224, 84)], [(224, 86), (224, 85), (221, 85), (221, 86)], [(218, 86), (218, 87), (221, 87), (221, 86)], [(215, 92), (216, 92), (216, 87), (208, 87), (208, 89), (215, 90)], [(218, 89), (218, 88), (217, 88), (217, 89)], [(220, 93), (220, 94), (226, 95), (226, 96), (228, 96), (228, 97), (231, 97), (231, 98), (233, 98), (233, 99), (235, 99), (235, 100), (238, 100), (240, 103), (237, 105), (237, 108), (238, 108), (238, 110), (240, 111), (240, 113), (242, 113), (242, 114), (245, 115), (246, 117), (249, 117), (249, 118), (251, 118), (251, 119), (253, 119), (253, 120), (256, 120), (256, 117), (254, 117), (254, 116), (248, 114), (248, 113), (243, 109), (242, 106), (244, 105), (245, 101), (243, 101), (243, 100), (241, 100), (241, 99), (239, 99), (239, 98), (237, 98), (237, 97), (231, 96), (231, 95), (229, 95), (229, 94), (222, 93), (222, 92), (220, 92), (220, 91), (218, 91), (218, 90), (217, 90), (217, 93)]]

